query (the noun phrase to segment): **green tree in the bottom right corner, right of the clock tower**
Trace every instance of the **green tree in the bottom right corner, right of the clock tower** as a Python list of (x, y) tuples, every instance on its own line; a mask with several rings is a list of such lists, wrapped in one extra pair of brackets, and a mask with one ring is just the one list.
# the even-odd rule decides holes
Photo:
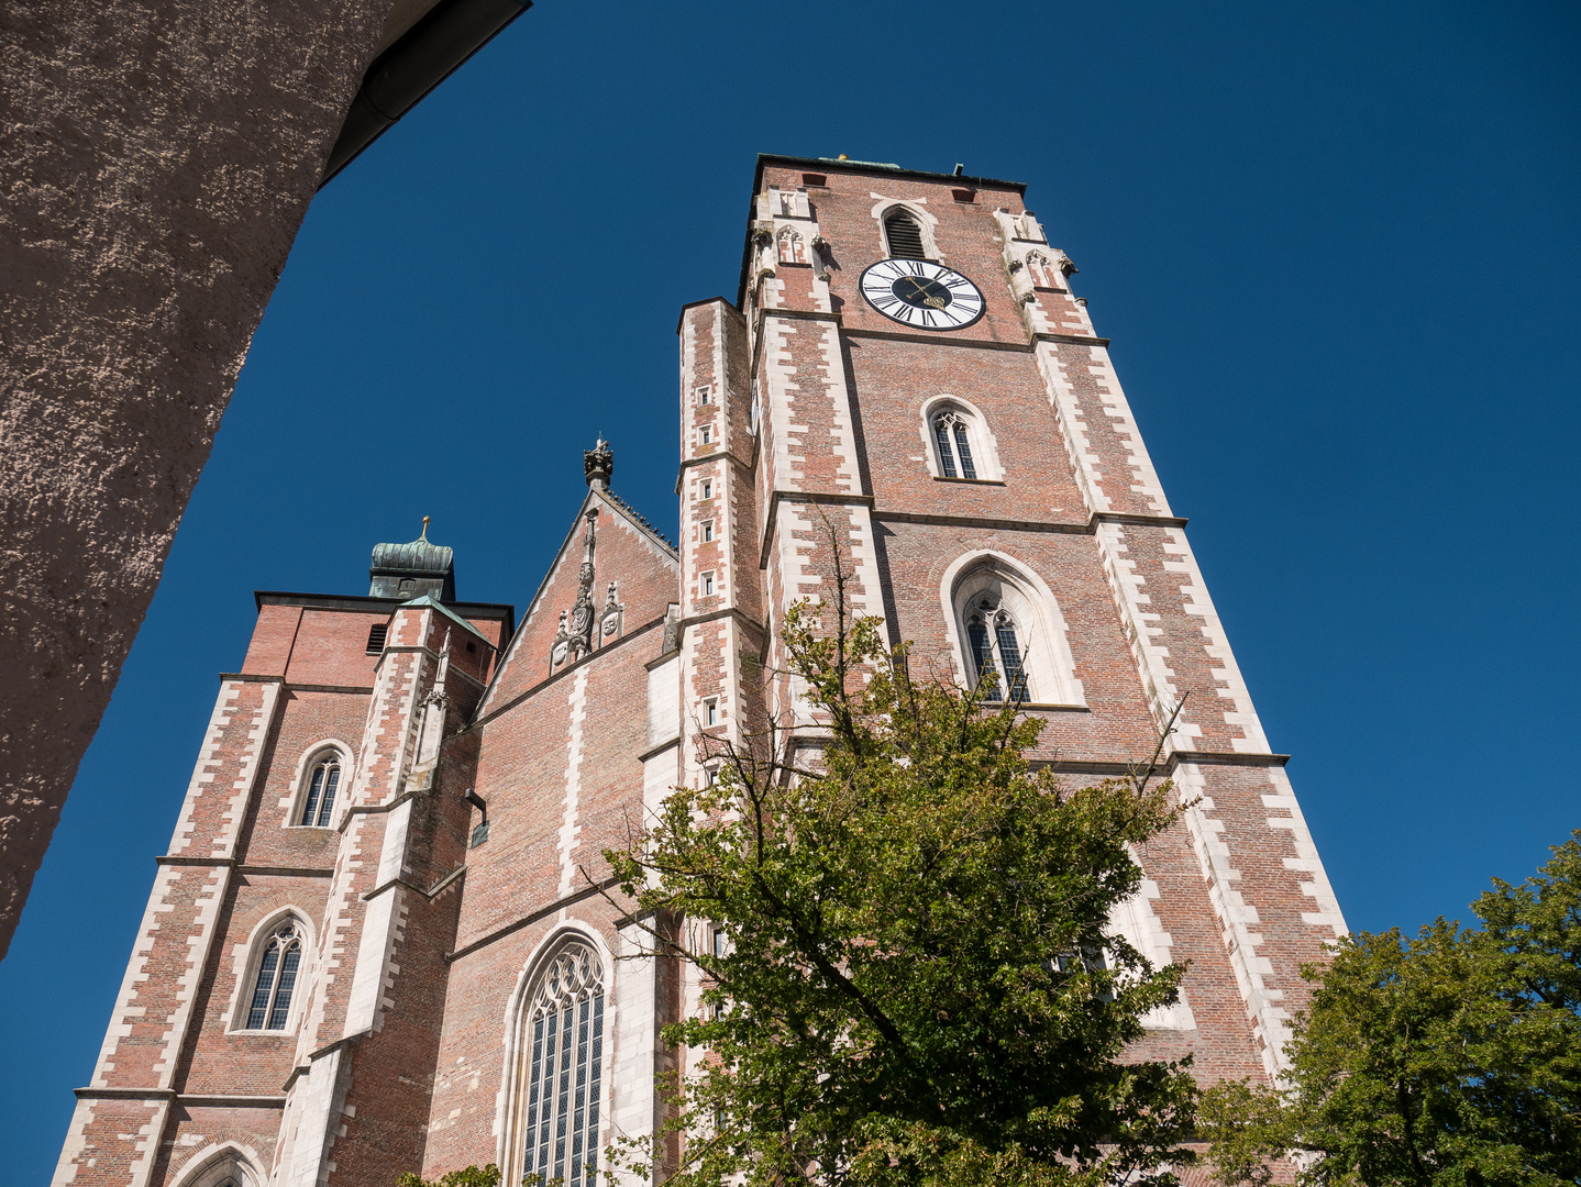
[(1524, 885), (1415, 939), (1342, 939), (1296, 1019), (1279, 1089), (1205, 1094), (1221, 1182), (1266, 1182), (1300, 1151), (1303, 1184), (1581, 1182), (1581, 831)]

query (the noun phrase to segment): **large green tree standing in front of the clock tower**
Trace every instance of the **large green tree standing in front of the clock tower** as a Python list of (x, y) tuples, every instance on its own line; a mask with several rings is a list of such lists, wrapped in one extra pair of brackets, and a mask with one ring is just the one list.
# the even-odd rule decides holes
[[(1178, 817), (1168, 786), (1032, 770), (1039, 721), (912, 678), (844, 599), (836, 567), (781, 631), (816, 757), (770, 727), (719, 743), (716, 784), (606, 852), (704, 975), (702, 1016), (664, 1029), (711, 1053), (669, 1086), (670, 1182), (1175, 1182), (1194, 1081), (1124, 1051), (1183, 970), (1105, 931), (1132, 850)], [(618, 1157), (651, 1171), (664, 1147)]]

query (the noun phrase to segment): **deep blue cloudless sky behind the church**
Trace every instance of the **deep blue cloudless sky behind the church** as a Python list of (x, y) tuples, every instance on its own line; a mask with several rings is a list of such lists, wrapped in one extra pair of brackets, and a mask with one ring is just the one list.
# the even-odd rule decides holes
[(1581, 11), (544, 0), (313, 204), (0, 964), (46, 1182), (253, 590), (531, 597), (596, 435), (674, 533), (675, 319), (757, 152), (1028, 182), (1353, 928), (1581, 825)]

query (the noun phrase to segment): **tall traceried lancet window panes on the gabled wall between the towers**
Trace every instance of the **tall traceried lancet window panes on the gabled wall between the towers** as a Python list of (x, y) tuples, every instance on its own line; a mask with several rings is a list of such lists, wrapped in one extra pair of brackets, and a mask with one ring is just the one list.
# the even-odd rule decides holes
[(568, 944), (539, 977), (526, 1008), (526, 1157), (538, 1182), (594, 1187), (604, 1072), (604, 966), (591, 945)]

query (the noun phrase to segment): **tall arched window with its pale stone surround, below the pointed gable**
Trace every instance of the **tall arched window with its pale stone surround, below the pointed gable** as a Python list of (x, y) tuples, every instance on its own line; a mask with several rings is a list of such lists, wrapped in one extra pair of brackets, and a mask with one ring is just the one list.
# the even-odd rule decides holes
[(520, 1182), (525, 1174), (561, 1187), (601, 1182), (613, 967), (598, 934), (566, 926), (522, 970), (506, 1015), (501, 1182)]

